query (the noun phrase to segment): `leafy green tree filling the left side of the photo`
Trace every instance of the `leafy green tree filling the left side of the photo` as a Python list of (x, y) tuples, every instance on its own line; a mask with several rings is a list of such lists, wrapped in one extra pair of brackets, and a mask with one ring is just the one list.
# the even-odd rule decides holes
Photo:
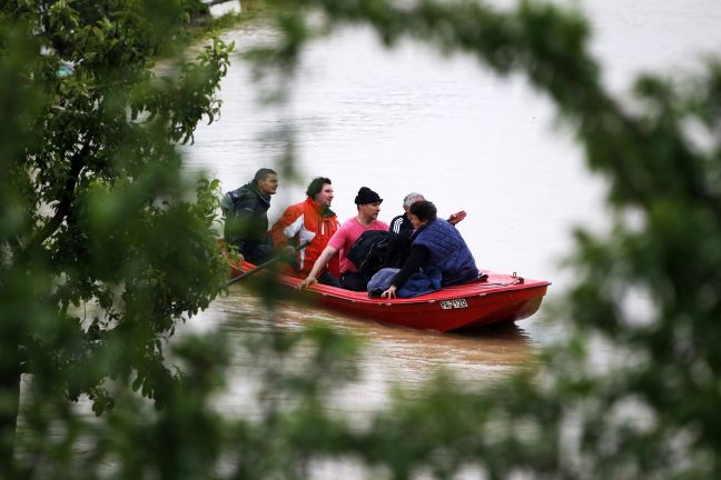
[(167, 339), (225, 280), (218, 183), (185, 178), (175, 148), (218, 114), (233, 48), (184, 57), (199, 3), (0, 2), (1, 478), (62, 466), (81, 431), (68, 400), (171, 402)]

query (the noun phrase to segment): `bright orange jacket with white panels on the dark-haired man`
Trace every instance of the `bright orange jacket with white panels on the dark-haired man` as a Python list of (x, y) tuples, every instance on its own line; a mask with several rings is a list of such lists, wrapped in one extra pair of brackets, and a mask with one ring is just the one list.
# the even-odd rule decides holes
[[(320, 206), (308, 197), (283, 212), (270, 229), (270, 238), (276, 249), (310, 241), (308, 247), (297, 252), (298, 271), (307, 276), (338, 227), (336, 214), (330, 209), (322, 210)], [(340, 266), (337, 253), (330, 259), (328, 271), (338, 278)]]

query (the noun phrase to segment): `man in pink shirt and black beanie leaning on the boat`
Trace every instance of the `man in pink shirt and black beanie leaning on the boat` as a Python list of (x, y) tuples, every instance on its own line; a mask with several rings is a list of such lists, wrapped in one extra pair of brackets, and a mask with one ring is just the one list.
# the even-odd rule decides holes
[(317, 281), (318, 273), (323, 271), (330, 258), (340, 252), (340, 286), (344, 289), (363, 291), (366, 289), (365, 278), (357, 271), (356, 266), (348, 261), (346, 254), (353, 243), (367, 230), (388, 230), (388, 224), (378, 220), (383, 199), (378, 193), (367, 187), (360, 187), (355, 198), (358, 214), (346, 220), (338, 231), (330, 238), (328, 246), (323, 250), (298, 288), (308, 287)]

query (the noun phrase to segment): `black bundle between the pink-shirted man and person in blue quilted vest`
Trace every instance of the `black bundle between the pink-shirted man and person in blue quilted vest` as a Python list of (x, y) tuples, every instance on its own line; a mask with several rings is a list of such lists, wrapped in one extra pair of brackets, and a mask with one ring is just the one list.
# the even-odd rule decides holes
[(368, 230), (353, 243), (346, 257), (369, 280), (382, 268), (401, 268), (411, 249), (409, 236), (388, 230)]

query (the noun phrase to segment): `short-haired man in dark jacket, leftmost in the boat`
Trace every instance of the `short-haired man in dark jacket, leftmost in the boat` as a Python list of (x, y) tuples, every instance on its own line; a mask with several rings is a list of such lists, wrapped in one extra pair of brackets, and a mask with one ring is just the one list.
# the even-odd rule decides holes
[(240, 261), (260, 263), (273, 253), (268, 239), (270, 196), (278, 189), (278, 174), (261, 168), (245, 186), (227, 192), (220, 200), (225, 217), (224, 237), (234, 244)]

